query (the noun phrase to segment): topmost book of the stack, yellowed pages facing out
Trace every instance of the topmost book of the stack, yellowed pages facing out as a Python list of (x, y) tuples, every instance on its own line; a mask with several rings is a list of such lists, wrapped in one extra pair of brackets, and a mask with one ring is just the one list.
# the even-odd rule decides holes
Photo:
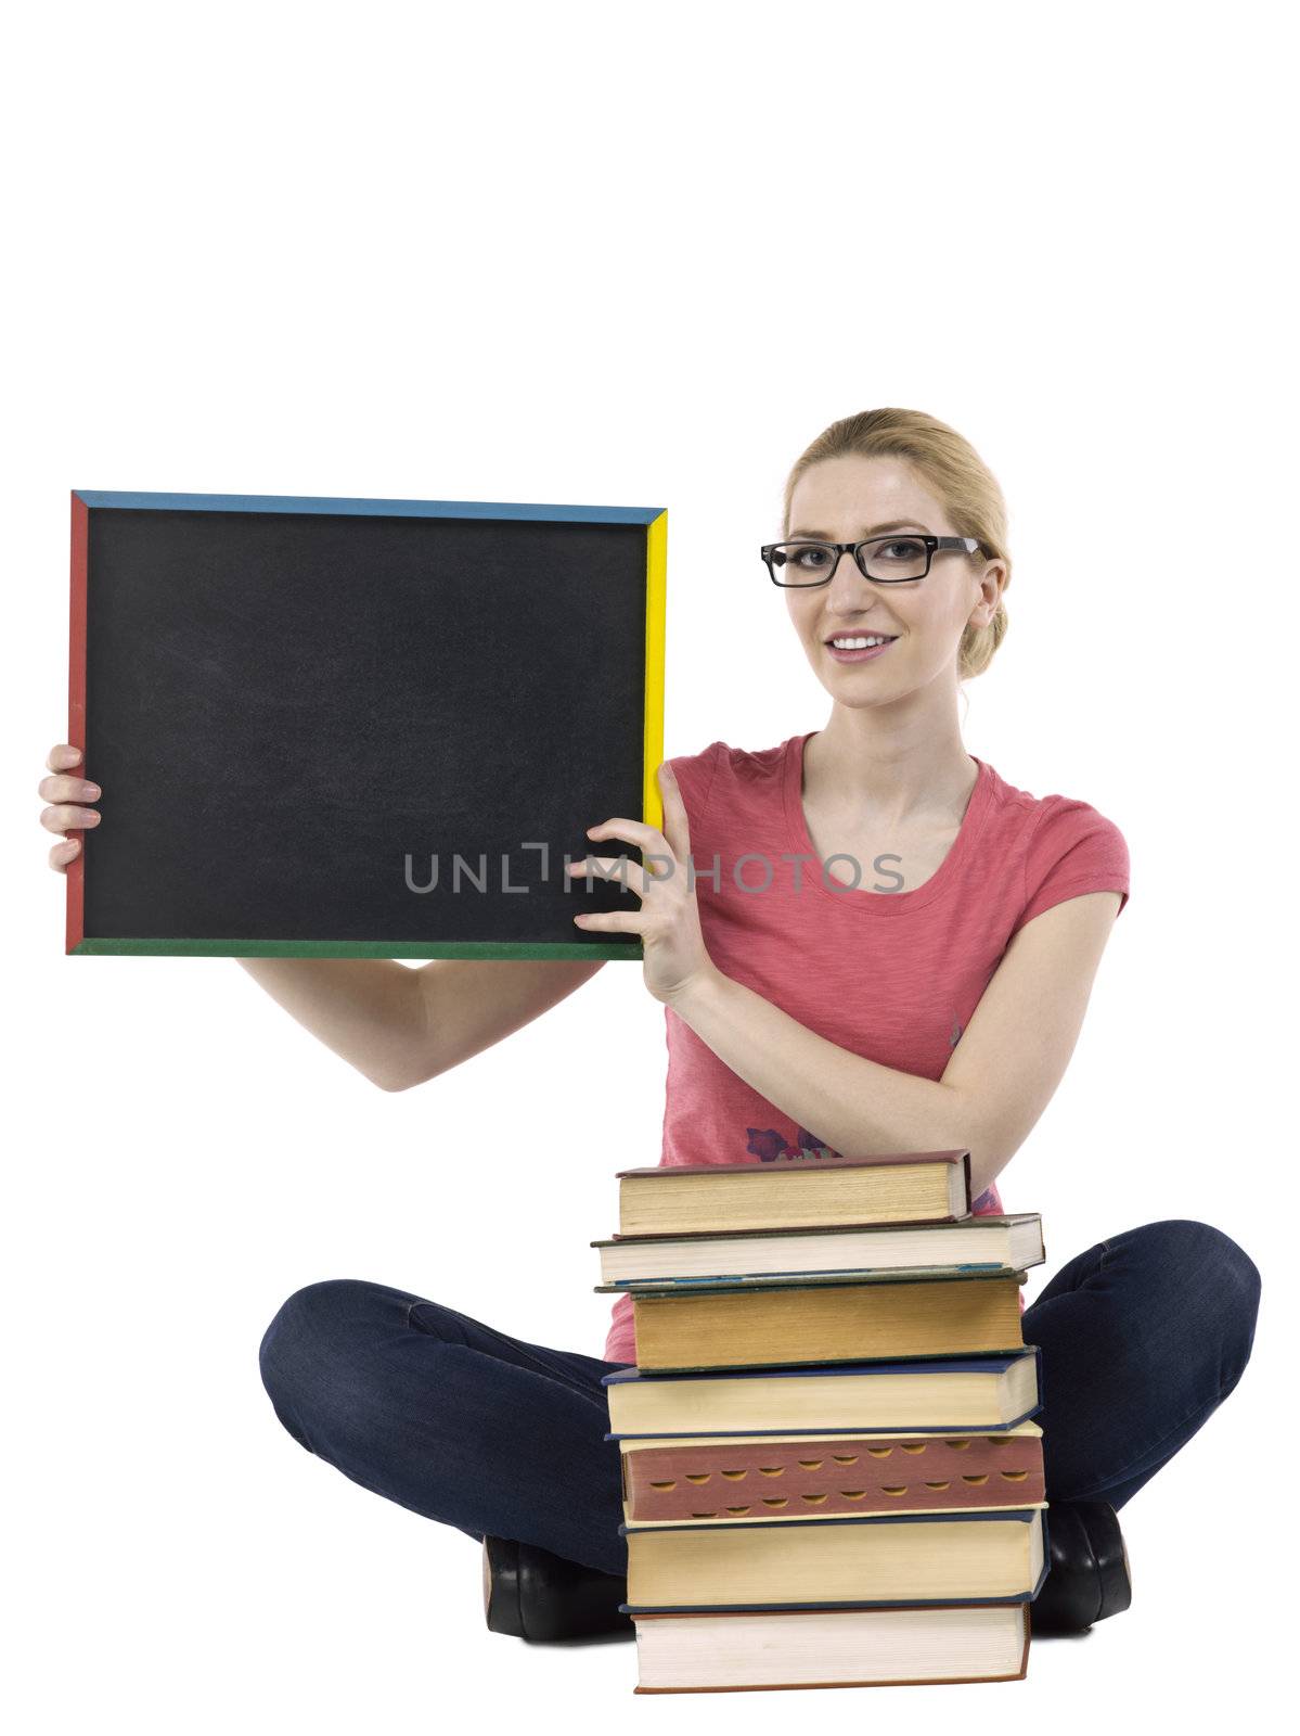
[(819, 1224), (932, 1224), (970, 1215), (968, 1151), (618, 1170), (621, 1236)]

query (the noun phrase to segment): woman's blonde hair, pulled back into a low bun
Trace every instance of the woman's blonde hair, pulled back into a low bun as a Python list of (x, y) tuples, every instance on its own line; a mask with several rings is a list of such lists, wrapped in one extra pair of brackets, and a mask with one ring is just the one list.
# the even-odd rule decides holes
[[(977, 536), (984, 554), (1000, 559), (1012, 576), (1012, 559), (1007, 552), (1007, 502), (998, 481), (970, 441), (946, 422), (927, 417), (923, 410), (863, 410), (856, 417), (831, 422), (812, 444), (798, 455), (785, 486), (781, 512), (783, 535), (790, 533), (790, 502), (800, 476), (823, 458), (904, 458), (922, 477), (958, 536)], [(981, 675), (993, 661), (993, 653), (1007, 637), (1007, 606), (998, 599), (998, 611), (988, 627), (967, 627), (958, 648), (958, 681)]]

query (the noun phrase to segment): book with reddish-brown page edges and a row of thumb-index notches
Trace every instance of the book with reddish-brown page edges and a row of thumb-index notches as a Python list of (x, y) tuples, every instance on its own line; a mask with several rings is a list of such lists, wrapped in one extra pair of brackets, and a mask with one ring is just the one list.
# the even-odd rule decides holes
[(1000, 1434), (708, 1436), (621, 1441), (623, 1517), (807, 1519), (823, 1514), (1038, 1507), (1043, 1430)]

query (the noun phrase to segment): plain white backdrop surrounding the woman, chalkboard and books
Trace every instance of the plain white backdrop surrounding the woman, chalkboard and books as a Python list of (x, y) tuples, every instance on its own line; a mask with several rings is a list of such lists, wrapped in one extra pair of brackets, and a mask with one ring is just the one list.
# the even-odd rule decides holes
[[(1133, 1696), (1208, 1727), (1272, 1668), (1297, 1035), (1279, 19), (262, 0), (10, 24), (14, 1729), (554, 1708), (1092, 1731)], [(1132, 851), (1073, 1064), (1001, 1177), (1043, 1213), (1028, 1295), (1102, 1236), (1206, 1219), (1264, 1271), (1255, 1358), (1125, 1509), (1132, 1609), (1034, 1642), (1026, 1682), (634, 1698), (630, 1644), (489, 1634), (477, 1547), (304, 1453), (257, 1345), (292, 1290), (352, 1276), (601, 1354), (588, 1243), (614, 1170), (658, 1160), (663, 1010), (613, 965), (392, 1095), (233, 960), (64, 957), (35, 786), (66, 740), (68, 493), (666, 507), (665, 752), (760, 748), (830, 700), (758, 543), (798, 451), (878, 404), (958, 427), (1010, 502), (1012, 625), (965, 689), (968, 750)], [(286, 826), (295, 790), (286, 762)]]

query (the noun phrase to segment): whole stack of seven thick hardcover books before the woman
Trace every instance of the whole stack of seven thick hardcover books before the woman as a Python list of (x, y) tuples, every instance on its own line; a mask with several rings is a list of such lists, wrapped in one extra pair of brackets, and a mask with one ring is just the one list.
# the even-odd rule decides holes
[(635, 1693), (1019, 1680), (1047, 1576), (1038, 1213), (967, 1151), (620, 1170), (601, 1292)]

